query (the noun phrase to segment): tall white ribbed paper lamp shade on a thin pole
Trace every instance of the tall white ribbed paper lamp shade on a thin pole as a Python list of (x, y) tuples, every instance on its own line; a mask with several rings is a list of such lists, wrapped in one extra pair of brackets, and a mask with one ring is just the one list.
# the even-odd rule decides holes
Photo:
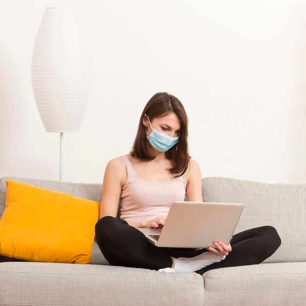
[(79, 131), (91, 91), (92, 65), (71, 8), (47, 7), (32, 55), (32, 88), (44, 128)]

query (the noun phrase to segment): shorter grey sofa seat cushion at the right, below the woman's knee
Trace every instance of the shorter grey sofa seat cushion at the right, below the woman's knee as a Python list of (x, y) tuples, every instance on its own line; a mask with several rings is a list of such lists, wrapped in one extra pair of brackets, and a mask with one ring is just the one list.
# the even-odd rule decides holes
[(305, 305), (306, 262), (261, 263), (203, 274), (204, 305)]

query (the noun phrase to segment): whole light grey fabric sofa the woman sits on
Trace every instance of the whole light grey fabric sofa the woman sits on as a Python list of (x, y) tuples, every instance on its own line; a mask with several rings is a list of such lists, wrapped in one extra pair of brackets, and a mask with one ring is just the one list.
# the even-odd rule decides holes
[[(0, 217), (6, 179), (99, 202), (102, 197), (102, 184), (6, 176), (0, 179)], [(94, 240), (90, 264), (0, 262), (0, 306), (306, 305), (306, 184), (205, 177), (202, 194), (204, 202), (245, 204), (234, 234), (271, 225), (281, 246), (260, 264), (200, 275), (111, 266)]]

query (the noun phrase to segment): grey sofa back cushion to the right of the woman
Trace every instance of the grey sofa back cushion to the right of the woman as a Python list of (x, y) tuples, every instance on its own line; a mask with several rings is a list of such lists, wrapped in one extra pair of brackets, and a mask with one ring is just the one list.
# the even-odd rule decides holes
[(202, 179), (204, 202), (243, 203), (234, 234), (271, 225), (282, 244), (264, 262), (306, 261), (306, 184), (266, 184), (226, 177)]

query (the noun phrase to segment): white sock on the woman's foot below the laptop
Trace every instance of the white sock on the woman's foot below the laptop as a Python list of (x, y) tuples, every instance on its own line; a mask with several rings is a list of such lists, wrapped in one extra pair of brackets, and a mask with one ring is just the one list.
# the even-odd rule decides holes
[(204, 252), (200, 255), (191, 258), (179, 257), (173, 258), (174, 267), (159, 269), (158, 272), (194, 272), (201, 268), (206, 267), (215, 262), (220, 262), (225, 259), (224, 256), (218, 256), (211, 252)]

